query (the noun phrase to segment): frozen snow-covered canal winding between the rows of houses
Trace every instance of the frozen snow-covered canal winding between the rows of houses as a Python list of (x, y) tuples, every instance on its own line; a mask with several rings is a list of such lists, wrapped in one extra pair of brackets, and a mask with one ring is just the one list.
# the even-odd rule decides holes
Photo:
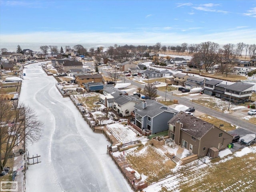
[(29, 166), (26, 192), (132, 192), (106, 154), (109, 143), (95, 134), (56, 80), (38, 63), (26, 66), (20, 101), (44, 123), (42, 139), (27, 147), (42, 163)]

